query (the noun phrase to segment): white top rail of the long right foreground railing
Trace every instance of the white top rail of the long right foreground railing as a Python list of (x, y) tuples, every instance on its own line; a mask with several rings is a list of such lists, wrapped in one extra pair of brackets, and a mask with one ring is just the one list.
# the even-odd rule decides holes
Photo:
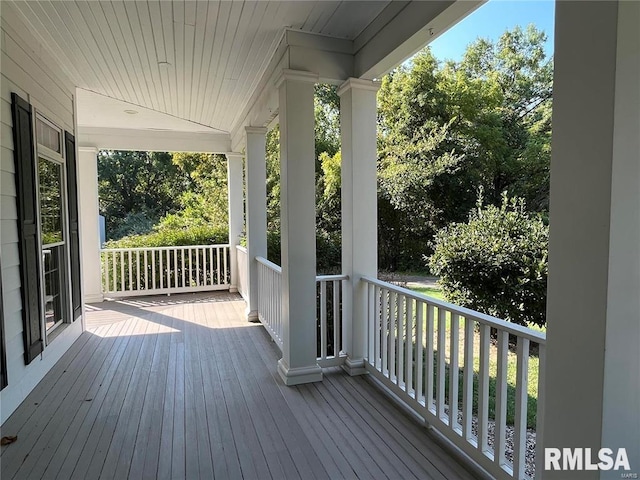
[(462, 315), (465, 318), (470, 318), (485, 325), (499, 328), (500, 330), (507, 331), (513, 335), (517, 335), (518, 337), (527, 338), (532, 342), (536, 342), (542, 345), (546, 344), (547, 342), (547, 337), (544, 333), (532, 330), (527, 327), (523, 327), (522, 325), (507, 322), (506, 320), (492, 317), (491, 315), (486, 315), (484, 313), (476, 312), (475, 310), (471, 310), (469, 308), (460, 307), (443, 300), (438, 300), (437, 298), (428, 297), (427, 295), (414, 292), (407, 288), (398, 287), (396, 285), (392, 285), (391, 283), (383, 282), (382, 280), (378, 280), (377, 278), (362, 277), (362, 281), (377, 285), (382, 288), (386, 288), (387, 290), (392, 290), (406, 297), (413, 298), (421, 302), (426, 302), (436, 307), (442, 307), (443, 309), (446, 309), (452, 313), (457, 313), (458, 315)]

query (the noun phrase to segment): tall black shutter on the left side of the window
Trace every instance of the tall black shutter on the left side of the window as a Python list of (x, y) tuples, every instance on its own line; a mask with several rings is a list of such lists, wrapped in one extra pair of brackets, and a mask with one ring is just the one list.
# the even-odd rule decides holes
[(15, 93), (11, 94), (13, 116), (13, 153), (16, 164), (18, 238), (20, 250), (20, 294), (24, 326), (24, 357), (27, 364), (44, 348), (42, 303), (40, 299), (40, 244), (36, 162), (33, 144), (33, 110)]

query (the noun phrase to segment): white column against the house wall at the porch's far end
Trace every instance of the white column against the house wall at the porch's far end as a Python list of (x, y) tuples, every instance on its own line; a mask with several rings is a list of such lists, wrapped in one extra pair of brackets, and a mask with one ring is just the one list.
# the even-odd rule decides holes
[(80, 208), (80, 242), (82, 291), (84, 303), (103, 300), (100, 268), (100, 224), (98, 222), (98, 149), (78, 148), (78, 206)]

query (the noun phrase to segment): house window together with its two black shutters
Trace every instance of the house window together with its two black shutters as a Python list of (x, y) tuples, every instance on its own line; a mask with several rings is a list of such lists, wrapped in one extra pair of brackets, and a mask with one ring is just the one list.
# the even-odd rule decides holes
[(15, 92), (11, 118), (24, 362), (29, 365), (56, 327), (82, 316), (76, 144), (71, 133), (34, 113)]

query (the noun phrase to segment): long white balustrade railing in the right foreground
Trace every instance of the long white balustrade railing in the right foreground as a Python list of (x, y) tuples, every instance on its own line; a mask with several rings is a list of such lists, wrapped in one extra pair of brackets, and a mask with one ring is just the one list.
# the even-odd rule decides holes
[[(533, 345), (542, 399), (545, 335), (377, 279), (363, 281), (369, 302), (367, 370), (491, 475), (527, 478), (529, 360)], [(516, 365), (513, 355), (510, 365), (514, 344)], [(507, 382), (508, 373), (515, 385)], [(512, 452), (506, 448), (508, 395), (515, 395)], [(536, 414), (540, 472), (542, 401)]]

